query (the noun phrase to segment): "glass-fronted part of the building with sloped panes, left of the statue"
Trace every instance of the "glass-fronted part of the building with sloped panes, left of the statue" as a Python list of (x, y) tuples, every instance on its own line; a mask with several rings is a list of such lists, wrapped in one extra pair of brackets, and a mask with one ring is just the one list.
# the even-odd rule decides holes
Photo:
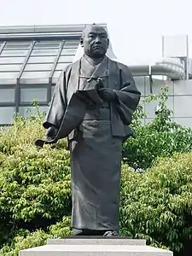
[(72, 63), (84, 26), (0, 28), (0, 125), (26, 116), (36, 100), (46, 111), (61, 70)]

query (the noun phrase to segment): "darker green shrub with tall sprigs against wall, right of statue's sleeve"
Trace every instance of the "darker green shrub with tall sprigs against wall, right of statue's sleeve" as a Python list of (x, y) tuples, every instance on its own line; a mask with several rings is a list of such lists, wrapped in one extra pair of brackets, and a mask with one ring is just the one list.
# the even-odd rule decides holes
[(172, 156), (175, 152), (189, 152), (192, 149), (192, 129), (172, 122), (166, 107), (167, 87), (159, 96), (148, 96), (144, 102), (158, 101), (160, 113), (147, 125), (141, 119), (146, 117), (142, 105), (138, 106), (131, 125), (137, 139), (129, 138), (124, 143), (123, 161), (133, 168), (148, 168), (157, 157)]

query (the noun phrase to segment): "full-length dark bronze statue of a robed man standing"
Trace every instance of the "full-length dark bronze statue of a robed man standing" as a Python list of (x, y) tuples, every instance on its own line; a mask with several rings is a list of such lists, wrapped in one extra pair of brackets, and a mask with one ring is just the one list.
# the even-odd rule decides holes
[(129, 125), (141, 94), (129, 67), (106, 55), (109, 40), (102, 26), (86, 27), (80, 44), (84, 55), (55, 85), (45, 143), (67, 137), (73, 234), (118, 236), (122, 143), (132, 134)]

